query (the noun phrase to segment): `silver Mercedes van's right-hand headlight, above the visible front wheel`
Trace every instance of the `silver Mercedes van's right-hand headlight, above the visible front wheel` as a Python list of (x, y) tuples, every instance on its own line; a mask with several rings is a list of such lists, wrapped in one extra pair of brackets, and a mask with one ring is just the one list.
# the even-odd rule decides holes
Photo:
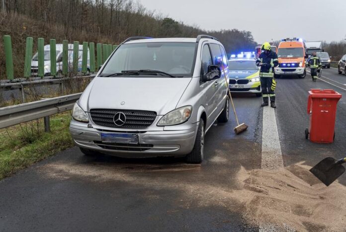
[(158, 126), (173, 126), (184, 123), (190, 118), (191, 112), (192, 106), (190, 105), (177, 108), (162, 117)]

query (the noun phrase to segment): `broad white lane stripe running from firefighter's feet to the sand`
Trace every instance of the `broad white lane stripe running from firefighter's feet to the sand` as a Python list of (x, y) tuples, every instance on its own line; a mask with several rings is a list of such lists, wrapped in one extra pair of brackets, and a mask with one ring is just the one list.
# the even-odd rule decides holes
[(275, 110), (263, 107), (262, 160), (261, 168), (279, 169), (283, 167), (279, 133), (276, 125)]

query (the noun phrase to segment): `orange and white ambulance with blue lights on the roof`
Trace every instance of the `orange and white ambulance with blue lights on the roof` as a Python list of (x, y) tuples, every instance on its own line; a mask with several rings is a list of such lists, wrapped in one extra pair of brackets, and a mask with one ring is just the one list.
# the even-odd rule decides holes
[(287, 38), (281, 40), (277, 49), (279, 65), (274, 68), (275, 77), (280, 76), (306, 76), (305, 42), (300, 38)]

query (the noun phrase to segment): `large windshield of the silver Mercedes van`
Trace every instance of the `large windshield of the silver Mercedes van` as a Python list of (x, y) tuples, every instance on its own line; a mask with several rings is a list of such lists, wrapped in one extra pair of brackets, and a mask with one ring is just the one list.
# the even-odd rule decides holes
[(182, 77), (192, 76), (196, 48), (197, 43), (190, 42), (123, 44), (105, 64), (100, 76), (138, 70), (157, 70)]

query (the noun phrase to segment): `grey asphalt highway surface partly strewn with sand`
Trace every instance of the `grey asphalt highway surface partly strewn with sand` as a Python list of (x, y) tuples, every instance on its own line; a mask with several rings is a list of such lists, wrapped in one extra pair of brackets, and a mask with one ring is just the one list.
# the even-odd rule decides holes
[[(344, 96), (333, 144), (305, 139), (311, 88)], [(74, 147), (0, 181), (0, 231), (345, 230), (346, 174), (325, 187), (308, 169), (345, 156), (346, 76), (331, 68), (316, 82), (279, 78), (275, 110), (255, 95), (234, 96), (249, 129), (235, 135), (231, 111), (207, 133), (201, 165), (88, 157)], [(264, 152), (270, 144), (274, 152)]]

